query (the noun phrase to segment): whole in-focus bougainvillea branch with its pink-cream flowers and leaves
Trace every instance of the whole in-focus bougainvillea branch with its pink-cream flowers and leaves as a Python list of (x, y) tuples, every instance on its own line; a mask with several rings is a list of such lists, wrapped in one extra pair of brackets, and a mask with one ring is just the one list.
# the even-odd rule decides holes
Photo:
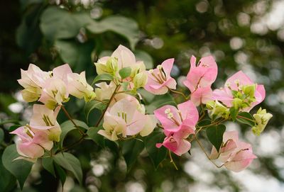
[[(4, 166), (21, 186), (39, 159), (43, 168), (63, 183), (65, 171), (71, 171), (81, 183), (80, 161), (72, 149), (92, 140), (97, 147), (118, 149), (129, 168), (146, 149), (155, 168), (169, 159), (178, 169), (172, 155), (190, 153), (192, 142), (196, 142), (218, 168), (246, 169), (257, 158), (253, 143), (239, 140), (239, 132), (227, 131), (225, 123), (245, 124), (254, 135), (260, 135), (272, 115), (262, 108), (255, 114), (250, 111), (265, 98), (263, 85), (240, 71), (222, 88), (212, 90), (218, 74), (214, 57), (197, 62), (192, 56), (190, 71), (182, 82), (189, 91), (179, 91), (171, 77), (174, 62), (170, 58), (155, 69), (146, 69), (131, 50), (119, 45), (111, 55), (94, 63), (97, 77), (92, 84), (85, 72), (72, 72), (69, 64), (50, 72), (35, 64), (26, 71), (21, 69), (21, 95), (33, 104), (33, 115), (28, 124), (11, 130), (16, 145), (6, 147)], [(85, 103), (85, 121), (74, 119), (65, 108), (74, 98)], [(100, 115), (94, 116), (94, 110)], [(58, 114), (69, 120), (58, 123)], [(64, 139), (72, 130), (77, 139), (66, 145)], [(208, 144), (211, 153), (204, 147)], [(19, 166), (26, 170), (24, 174), (16, 173)]]

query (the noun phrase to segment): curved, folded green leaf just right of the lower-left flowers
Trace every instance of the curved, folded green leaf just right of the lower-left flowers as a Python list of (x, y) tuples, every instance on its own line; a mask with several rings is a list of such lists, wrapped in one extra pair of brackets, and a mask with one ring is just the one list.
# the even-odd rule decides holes
[[(73, 120), (77, 126), (79, 126), (80, 128), (84, 128), (85, 130), (87, 130), (89, 127), (86, 123), (80, 121), (80, 120)], [(60, 128), (62, 130), (61, 134), (60, 134), (60, 141), (59, 141), (59, 147), (60, 149), (62, 149), (62, 145), (63, 145), (63, 142), (64, 142), (64, 139), (67, 135), (68, 132), (72, 131), (72, 130), (75, 130), (77, 129), (75, 127), (75, 125), (72, 123), (71, 120), (67, 120), (65, 121), (64, 123), (62, 123), (60, 125)]]

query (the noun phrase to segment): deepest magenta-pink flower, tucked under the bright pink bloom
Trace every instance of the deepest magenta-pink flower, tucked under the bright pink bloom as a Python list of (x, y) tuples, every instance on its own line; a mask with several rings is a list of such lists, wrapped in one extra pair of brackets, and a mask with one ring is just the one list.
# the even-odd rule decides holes
[(180, 156), (190, 150), (191, 144), (186, 140), (190, 134), (192, 134), (192, 130), (186, 126), (182, 126), (177, 132), (167, 132), (165, 130), (165, 140), (163, 143), (157, 143), (156, 147), (160, 148), (163, 145), (171, 152)]

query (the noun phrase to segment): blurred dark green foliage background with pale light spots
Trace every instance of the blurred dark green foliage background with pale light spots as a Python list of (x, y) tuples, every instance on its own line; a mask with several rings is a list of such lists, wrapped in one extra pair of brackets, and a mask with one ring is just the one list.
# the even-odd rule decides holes
[[(283, 10), (283, 0), (0, 1), (0, 126), (5, 130), (4, 142), (12, 142), (11, 125), (24, 125), (31, 117), (31, 107), (23, 102), (16, 81), (20, 69), (26, 70), (29, 63), (43, 70), (69, 63), (75, 72), (86, 70), (92, 80), (96, 75), (93, 62), (121, 44), (144, 60), (148, 69), (174, 57), (173, 77), (180, 91), (187, 91), (181, 82), (191, 55), (213, 55), (219, 66), (215, 88), (238, 70), (266, 87), (266, 101), (261, 106), (273, 118), (261, 136), (256, 137), (246, 126), (227, 124), (227, 130), (242, 132), (242, 140), (250, 142), (258, 156), (249, 169), (240, 173), (217, 169), (193, 142), (191, 155), (174, 158), (178, 171), (168, 159), (155, 170), (143, 152), (126, 171), (119, 152), (85, 141), (73, 151), (83, 167), (83, 186), (70, 175), (63, 191), (284, 191)], [(75, 118), (84, 119), (83, 104), (74, 100), (67, 108)], [(66, 142), (72, 140), (70, 135)], [(209, 152), (209, 145), (206, 147)], [(3, 149), (0, 147), (0, 155)], [(0, 191), (19, 190), (13, 176), (0, 175), (6, 176), (0, 181)], [(62, 187), (38, 163), (23, 191), (62, 191)]]

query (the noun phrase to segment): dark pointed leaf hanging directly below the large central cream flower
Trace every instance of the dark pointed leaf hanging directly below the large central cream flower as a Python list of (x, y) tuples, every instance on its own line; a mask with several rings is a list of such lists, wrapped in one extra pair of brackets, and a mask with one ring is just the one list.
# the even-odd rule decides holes
[(122, 142), (122, 155), (124, 156), (127, 169), (131, 169), (131, 166), (136, 162), (139, 154), (144, 149), (144, 143), (141, 140), (126, 140)]

